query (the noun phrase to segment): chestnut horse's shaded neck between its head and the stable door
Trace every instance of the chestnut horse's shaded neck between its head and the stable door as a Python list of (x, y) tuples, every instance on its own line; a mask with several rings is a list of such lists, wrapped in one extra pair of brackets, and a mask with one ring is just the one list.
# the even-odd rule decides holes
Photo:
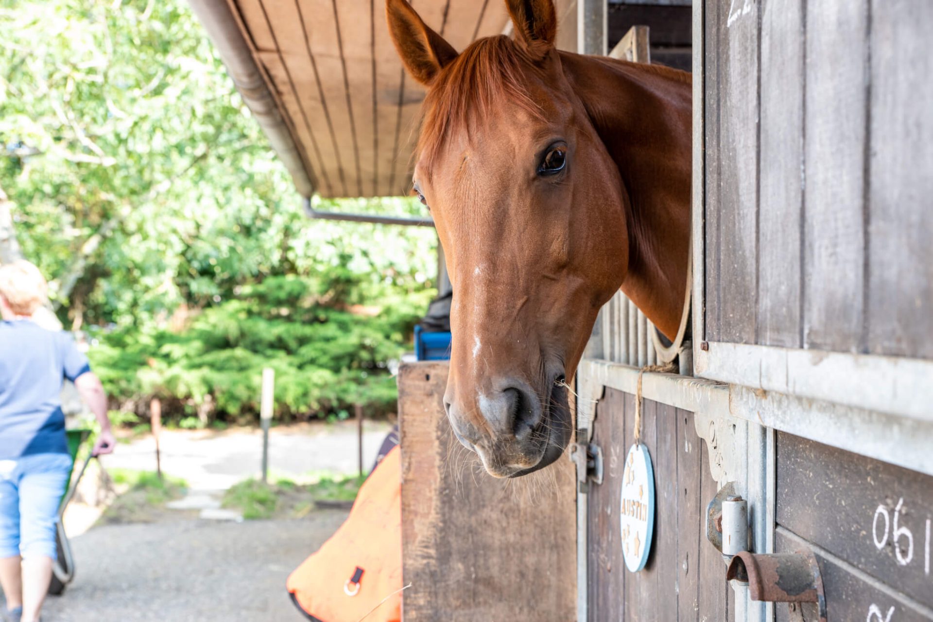
[(689, 76), (569, 52), (561, 52), (561, 63), (629, 198), (629, 270), (621, 289), (673, 339), (689, 261)]

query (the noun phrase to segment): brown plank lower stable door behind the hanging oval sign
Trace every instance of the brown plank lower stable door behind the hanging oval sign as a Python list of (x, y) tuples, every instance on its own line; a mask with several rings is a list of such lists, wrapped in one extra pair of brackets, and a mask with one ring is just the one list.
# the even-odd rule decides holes
[(726, 566), (704, 532), (706, 503), (718, 486), (693, 414), (650, 400), (642, 405), (642, 442), (656, 487), (654, 544), (645, 569), (630, 573), (622, 559), (619, 507), (622, 465), (634, 442), (634, 395), (606, 389), (592, 436), (605, 466), (603, 483), (591, 484), (588, 494), (590, 620), (731, 620)]

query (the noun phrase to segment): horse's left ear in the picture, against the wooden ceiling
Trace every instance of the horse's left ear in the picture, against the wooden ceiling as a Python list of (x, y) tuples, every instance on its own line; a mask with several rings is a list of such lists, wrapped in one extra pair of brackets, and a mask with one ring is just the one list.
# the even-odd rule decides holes
[(457, 57), (457, 50), (428, 28), (406, 0), (385, 0), (385, 18), (402, 63), (425, 86)]

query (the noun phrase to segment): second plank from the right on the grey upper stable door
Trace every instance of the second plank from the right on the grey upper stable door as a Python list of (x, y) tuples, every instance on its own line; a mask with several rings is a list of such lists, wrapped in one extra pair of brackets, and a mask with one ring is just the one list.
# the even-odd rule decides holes
[(868, 0), (826, 0), (806, 15), (803, 345), (808, 348), (854, 352), (861, 341), (867, 17)]

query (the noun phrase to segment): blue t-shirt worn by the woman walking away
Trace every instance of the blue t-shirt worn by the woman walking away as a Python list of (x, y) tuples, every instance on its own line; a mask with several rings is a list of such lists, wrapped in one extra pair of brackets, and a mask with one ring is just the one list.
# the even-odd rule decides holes
[(67, 333), (29, 320), (0, 322), (0, 460), (67, 453), (63, 379), (91, 371)]

